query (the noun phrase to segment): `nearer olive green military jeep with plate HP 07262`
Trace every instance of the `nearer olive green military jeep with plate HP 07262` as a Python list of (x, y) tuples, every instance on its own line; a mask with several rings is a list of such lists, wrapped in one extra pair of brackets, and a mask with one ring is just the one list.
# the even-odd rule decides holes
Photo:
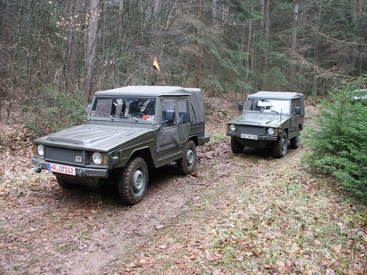
[(86, 125), (34, 140), (36, 172), (51, 171), (62, 188), (118, 186), (134, 205), (144, 197), (148, 167), (176, 161), (192, 173), (196, 146), (209, 141), (200, 89), (128, 86), (96, 92)]

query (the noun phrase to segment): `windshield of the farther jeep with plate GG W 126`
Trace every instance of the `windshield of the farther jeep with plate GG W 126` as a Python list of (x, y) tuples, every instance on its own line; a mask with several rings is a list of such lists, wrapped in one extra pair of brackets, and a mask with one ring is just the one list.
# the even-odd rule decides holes
[(245, 110), (260, 111), (261, 113), (288, 114), (289, 100), (277, 99), (247, 99)]

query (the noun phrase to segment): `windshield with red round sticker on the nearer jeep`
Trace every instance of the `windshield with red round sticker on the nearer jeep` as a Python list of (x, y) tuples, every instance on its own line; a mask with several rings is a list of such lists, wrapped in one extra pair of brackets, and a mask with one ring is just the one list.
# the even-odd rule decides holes
[(134, 121), (155, 120), (155, 98), (95, 98), (91, 117), (128, 118)]

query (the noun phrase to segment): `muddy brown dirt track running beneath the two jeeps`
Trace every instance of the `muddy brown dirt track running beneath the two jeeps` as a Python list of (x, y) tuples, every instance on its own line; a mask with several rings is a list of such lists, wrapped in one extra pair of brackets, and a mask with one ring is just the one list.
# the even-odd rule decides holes
[[(174, 227), (178, 216), (195, 215), (189, 206), (200, 196), (210, 196), (208, 190), (219, 188), (224, 197), (236, 192), (233, 176), (208, 175), (261, 178), (282, 162), (298, 159), (299, 150), (273, 159), (251, 148), (235, 155), (229, 140), (206, 144), (198, 148), (193, 176), (177, 175), (174, 163), (149, 171), (145, 198), (132, 207), (119, 201), (115, 187), (61, 190), (54, 182), (38, 183), (0, 209), (0, 273), (113, 274), (115, 261), (154, 240), (159, 230)], [(213, 194), (218, 196), (218, 190)]]

